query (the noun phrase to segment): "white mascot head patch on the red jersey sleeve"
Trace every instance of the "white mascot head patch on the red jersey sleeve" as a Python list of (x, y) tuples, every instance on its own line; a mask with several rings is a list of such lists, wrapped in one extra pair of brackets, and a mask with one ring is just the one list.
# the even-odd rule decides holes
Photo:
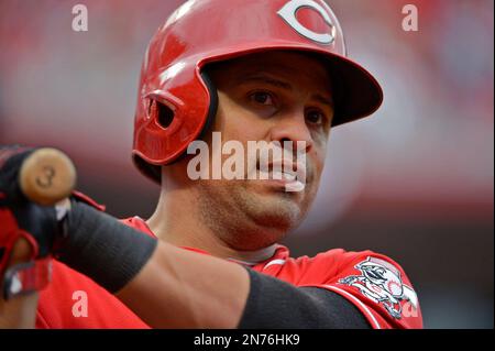
[(416, 310), (418, 297), (415, 290), (403, 283), (400, 272), (386, 261), (367, 257), (354, 266), (361, 275), (350, 275), (339, 281), (340, 284), (353, 286), (369, 299), (382, 305), (392, 317), (400, 319), (403, 301)]

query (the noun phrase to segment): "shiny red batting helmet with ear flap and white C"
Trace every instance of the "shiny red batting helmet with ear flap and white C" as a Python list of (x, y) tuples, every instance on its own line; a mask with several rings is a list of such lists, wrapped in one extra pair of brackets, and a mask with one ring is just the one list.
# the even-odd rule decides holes
[[(160, 182), (160, 166), (185, 153), (211, 122), (217, 90), (207, 64), (268, 50), (320, 54), (342, 97), (332, 125), (372, 114), (378, 83), (345, 58), (342, 30), (323, 0), (189, 0), (152, 39), (144, 57), (133, 160)], [(337, 81), (336, 81), (337, 80)]]

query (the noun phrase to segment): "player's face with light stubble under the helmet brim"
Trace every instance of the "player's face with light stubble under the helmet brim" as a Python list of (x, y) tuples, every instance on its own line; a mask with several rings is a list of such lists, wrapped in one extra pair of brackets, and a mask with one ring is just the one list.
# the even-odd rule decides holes
[[(200, 180), (205, 219), (212, 226), (230, 219), (228, 226), (238, 233), (223, 239), (239, 250), (264, 248), (298, 226), (316, 196), (333, 117), (330, 77), (317, 58), (296, 52), (252, 54), (219, 64), (210, 76), (219, 95), (211, 131), (221, 132), (222, 143), (239, 141), (245, 151), (249, 141), (289, 141), (294, 150), (298, 141), (306, 143), (301, 191), (287, 191), (287, 179), (248, 179), (260, 171), (256, 162), (250, 168), (248, 160), (242, 180)], [(210, 132), (206, 141), (211, 144)], [(295, 163), (296, 155), (289, 161)]]

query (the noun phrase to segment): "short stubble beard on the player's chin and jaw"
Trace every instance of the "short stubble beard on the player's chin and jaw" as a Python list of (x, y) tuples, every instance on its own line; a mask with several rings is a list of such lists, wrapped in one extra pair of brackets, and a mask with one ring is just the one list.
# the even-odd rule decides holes
[(233, 250), (267, 248), (296, 228), (302, 217), (295, 194), (258, 193), (251, 180), (201, 182), (198, 197), (201, 220)]

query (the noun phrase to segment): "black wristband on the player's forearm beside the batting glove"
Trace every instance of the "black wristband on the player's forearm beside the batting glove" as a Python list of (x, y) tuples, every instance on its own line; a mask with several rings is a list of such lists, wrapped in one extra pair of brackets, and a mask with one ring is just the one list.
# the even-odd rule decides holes
[(157, 241), (77, 200), (65, 220), (57, 259), (111, 293), (124, 287), (146, 264)]

